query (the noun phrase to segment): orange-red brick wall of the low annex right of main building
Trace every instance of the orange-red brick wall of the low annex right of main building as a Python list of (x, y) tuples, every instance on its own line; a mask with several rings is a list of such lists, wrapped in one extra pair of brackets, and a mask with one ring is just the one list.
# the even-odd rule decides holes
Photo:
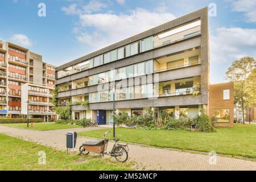
[[(223, 100), (223, 90), (230, 89), (230, 99)], [(227, 82), (213, 84), (209, 87), (209, 115), (213, 115), (214, 109), (229, 109), (229, 122), (216, 122), (216, 126), (234, 125), (234, 83)]]

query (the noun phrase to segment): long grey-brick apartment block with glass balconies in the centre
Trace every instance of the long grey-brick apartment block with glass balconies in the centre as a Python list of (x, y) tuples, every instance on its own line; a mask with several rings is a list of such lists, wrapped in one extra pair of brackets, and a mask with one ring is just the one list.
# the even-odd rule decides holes
[[(121, 34), (122, 32), (120, 32)], [(74, 119), (113, 123), (117, 112), (167, 109), (170, 117), (209, 113), (208, 10), (197, 10), (56, 68), (59, 104)], [(114, 89), (113, 89), (114, 88)]]

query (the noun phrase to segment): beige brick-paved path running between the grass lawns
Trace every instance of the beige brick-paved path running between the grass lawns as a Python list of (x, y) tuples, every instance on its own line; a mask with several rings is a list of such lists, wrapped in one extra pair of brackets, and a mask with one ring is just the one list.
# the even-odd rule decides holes
[[(0, 126), (0, 133), (13, 137), (30, 140), (45, 146), (65, 148), (65, 134), (67, 131), (89, 131), (102, 129), (102, 127), (77, 128), (51, 131), (34, 131), (16, 129)], [(77, 138), (76, 150), (79, 150), (81, 143), (90, 140), (86, 137)], [(113, 142), (109, 143), (109, 148)], [(188, 152), (171, 151), (162, 148), (144, 147), (136, 144), (129, 144), (129, 161), (134, 161), (137, 166), (134, 169), (142, 170), (256, 170), (256, 162), (217, 156), (216, 165), (209, 164), (209, 155), (191, 154)], [(110, 149), (109, 149), (110, 150)]]

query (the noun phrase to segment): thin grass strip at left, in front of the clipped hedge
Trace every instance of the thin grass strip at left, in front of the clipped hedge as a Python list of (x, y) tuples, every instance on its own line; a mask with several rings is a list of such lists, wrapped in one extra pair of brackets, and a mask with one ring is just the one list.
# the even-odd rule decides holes
[(29, 127), (27, 127), (27, 123), (2, 124), (2, 126), (18, 127), (22, 129), (40, 130), (40, 131), (71, 129), (75, 127), (82, 127), (77, 125), (66, 125), (66, 124), (54, 123), (54, 122), (33, 123), (33, 127), (30, 127), (30, 123), (29, 123)]

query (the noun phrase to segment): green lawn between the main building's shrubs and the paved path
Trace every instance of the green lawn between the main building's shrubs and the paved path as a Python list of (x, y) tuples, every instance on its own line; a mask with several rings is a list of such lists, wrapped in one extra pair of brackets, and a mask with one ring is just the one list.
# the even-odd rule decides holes
[[(102, 133), (108, 130), (112, 131), (94, 130), (79, 135), (100, 138)], [(199, 133), (183, 130), (117, 128), (115, 132), (116, 137), (125, 142), (256, 158), (256, 125), (235, 124), (234, 127), (216, 127), (216, 130), (216, 133)], [(112, 133), (109, 134), (109, 138), (112, 138), (111, 136)]]

